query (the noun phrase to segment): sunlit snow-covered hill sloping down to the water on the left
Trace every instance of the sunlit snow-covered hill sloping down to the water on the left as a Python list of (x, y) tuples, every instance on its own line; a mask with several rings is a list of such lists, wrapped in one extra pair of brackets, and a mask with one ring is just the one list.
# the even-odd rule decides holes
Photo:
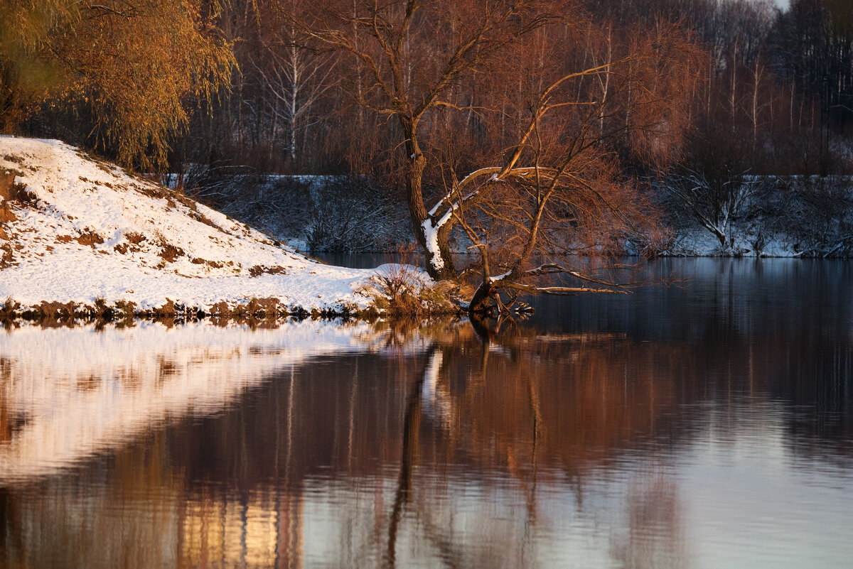
[(368, 306), (357, 290), (373, 273), (312, 261), (61, 141), (0, 136), (0, 302), (339, 311)]

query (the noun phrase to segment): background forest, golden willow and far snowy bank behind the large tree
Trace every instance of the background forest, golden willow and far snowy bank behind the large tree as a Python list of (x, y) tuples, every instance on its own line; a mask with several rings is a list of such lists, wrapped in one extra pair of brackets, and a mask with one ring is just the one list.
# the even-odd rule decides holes
[[(357, 14), (361, 3), (4, 3), (4, 131), (60, 138), (163, 175), (312, 250), (377, 250), (412, 239), (406, 200), (393, 190), (409, 183), (400, 174), (409, 167), (399, 142), (405, 124), (371, 99), (381, 82), (365, 60), (316, 32), (330, 30), (318, 10), (345, 14), (351, 5)], [(600, 133), (595, 144), (606, 145), (607, 168), (617, 169), (608, 175), (630, 178), (664, 212), (675, 231), (660, 249), (702, 252), (696, 243), (710, 239), (718, 253), (772, 254), (771, 244), (784, 240), (802, 255), (853, 252), (848, 0), (792, 0), (785, 11), (769, 0), (596, 0), (554, 2), (549, 10), (559, 15), (563, 36), (534, 34), (525, 51), (502, 44), (503, 60), (478, 44), (471, 57), (481, 59), (451, 77), (439, 101), (450, 108), (417, 127), (429, 140), (446, 141), (424, 145), (432, 158), (422, 172), (428, 201), (448, 192), (449, 175), (514, 147), (513, 129), (525, 105), (532, 108), (525, 101), (536, 99), (528, 96), (531, 78), (547, 78), (554, 60), (580, 69), (615, 66), (640, 53), (642, 42), (660, 53), (667, 49), (661, 37), (678, 34), (702, 55), (683, 52), (688, 80), (672, 79), (675, 95), (660, 87), (675, 66), (663, 59), (656, 60), (657, 76), (646, 69), (641, 77), (640, 66), (628, 63), (637, 75), (626, 74), (624, 83), (602, 73), (573, 87), (578, 101), (597, 89), (597, 103), (624, 89), (619, 106), (602, 103), (577, 124)], [(520, 37), (528, 33), (523, 26), (543, 26), (528, 15), (507, 20), (504, 33)], [(355, 41), (363, 23), (357, 20)], [(446, 26), (432, 21), (401, 44), (406, 85), (416, 85), (412, 75), (423, 75), (431, 57), (446, 59), (442, 46), (462, 34), (452, 24), (462, 16)], [(674, 101), (669, 116), (655, 115), (654, 127), (632, 123), (633, 107), (624, 102), (641, 96), (643, 84)], [(661, 124), (665, 142), (637, 139), (638, 131)], [(691, 242), (690, 235), (704, 237)]]

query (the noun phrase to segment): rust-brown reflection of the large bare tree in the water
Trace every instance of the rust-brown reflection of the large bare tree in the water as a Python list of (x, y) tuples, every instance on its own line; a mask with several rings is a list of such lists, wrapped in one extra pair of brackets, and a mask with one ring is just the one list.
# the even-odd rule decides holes
[[(584, 469), (601, 468), (637, 434), (653, 434), (665, 422), (659, 418), (660, 411), (673, 402), (671, 378), (656, 381), (651, 375), (660, 362), (629, 364), (637, 353), (624, 337), (537, 336), (516, 329), (509, 336), (481, 335), (480, 340), (479, 346), (457, 339), (452, 348), (434, 348), (425, 371), (409, 388), (400, 475), (388, 530), (389, 566), (397, 559), (398, 527), (407, 507), (413, 513), (412, 523), (423, 528), (427, 541), (449, 566), (530, 565), (536, 560), (531, 551), (539, 544), (532, 533), (549, 523), (548, 516), (537, 511), (541, 501), (537, 487), (542, 485), (547, 492), (563, 480), (583, 480)], [(650, 352), (656, 351), (645, 349), (642, 357), (655, 359), (657, 354)], [(475, 364), (472, 360), (478, 352), (479, 364)], [(425, 430), (424, 420), (432, 423), (432, 433), (421, 440), (418, 433)], [(438, 475), (438, 484), (435, 476), (427, 474), (419, 477), (420, 484), (413, 480), (418, 463), (431, 474), (445, 470)], [(452, 521), (448, 529), (446, 509), (435, 511), (430, 497), (413, 499), (418, 490), (440, 496), (440, 480), (449, 474), (447, 465), (460, 463), (468, 472), (485, 476), (504, 472), (516, 481), (525, 504), (525, 514), (517, 520), (520, 539), (506, 536), (482, 552), (485, 555), (472, 555), (470, 550), (453, 547), (457, 540)], [(653, 509), (658, 526), (651, 531), (647, 520), (635, 515), (635, 504), (630, 505), (630, 538), (614, 549), (625, 566), (656, 566), (667, 554), (668, 566), (685, 566), (682, 555), (672, 555), (683, 549), (676, 493), (670, 491), (665, 497), (670, 498), (669, 508)], [(638, 524), (643, 527), (635, 527)], [(488, 532), (494, 533), (495, 528)], [(653, 546), (666, 543), (664, 551), (653, 547), (650, 556), (647, 540), (635, 538), (643, 532), (652, 537)], [(494, 537), (482, 535), (482, 528), (473, 533)], [(647, 558), (651, 565), (643, 564)]]

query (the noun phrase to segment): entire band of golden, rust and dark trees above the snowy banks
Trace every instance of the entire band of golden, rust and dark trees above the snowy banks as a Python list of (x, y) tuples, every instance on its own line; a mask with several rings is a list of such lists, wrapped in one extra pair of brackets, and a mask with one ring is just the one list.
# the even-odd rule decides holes
[(7, 131), (146, 170), (368, 176), (475, 305), (620, 290), (577, 259), (665, 246), (662, 195), (731, 248), (756, 175), (850, 163), (844, 0), (7, 3)]

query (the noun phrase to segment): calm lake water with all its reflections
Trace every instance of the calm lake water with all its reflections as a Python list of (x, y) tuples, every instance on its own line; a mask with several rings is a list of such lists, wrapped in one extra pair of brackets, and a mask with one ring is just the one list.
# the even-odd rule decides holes
[(0, 336), (3, 567), (853, 566), (853, 263), (499, 330)]

